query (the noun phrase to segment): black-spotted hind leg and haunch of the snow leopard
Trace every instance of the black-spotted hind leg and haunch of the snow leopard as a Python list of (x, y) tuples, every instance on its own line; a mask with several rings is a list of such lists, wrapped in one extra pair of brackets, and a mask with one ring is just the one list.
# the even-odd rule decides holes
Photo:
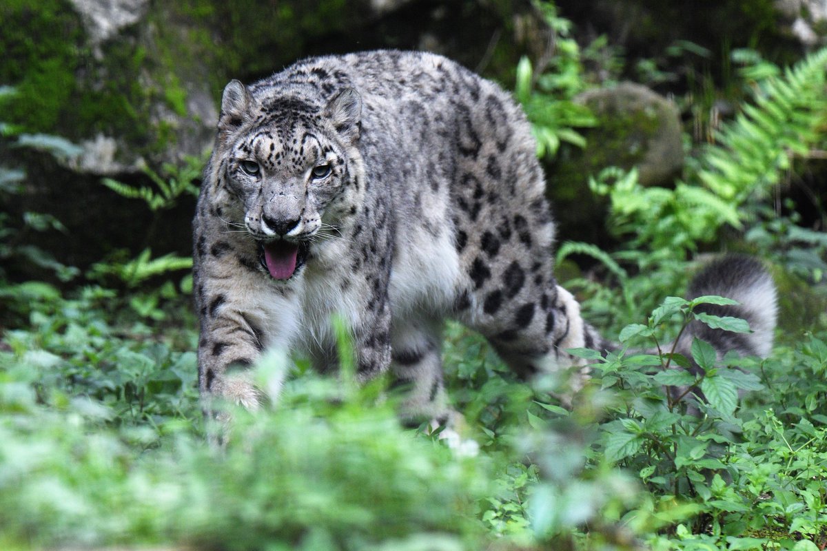
[(561, 372), (581, 364), (567, 349), (609, 343), (554, 278), (555, 224), (528, 121), (493, 85), (480, 88), (457, 136), (453, 226), (466, 278), (454, 317), (520, 376)]

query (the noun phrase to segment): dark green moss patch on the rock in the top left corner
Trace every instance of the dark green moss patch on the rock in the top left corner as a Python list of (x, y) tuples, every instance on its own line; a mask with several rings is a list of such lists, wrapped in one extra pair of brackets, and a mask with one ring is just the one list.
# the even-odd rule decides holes
[(146, 141), (148, 102), (138, 79), (146, 52), (134, 40), (103, 45), (102, 65), (69, 2), (3, 2), (0, 20), (0, 82), (18, 92), (2, 106), (4, 121), (72, 140), (103, 132)]

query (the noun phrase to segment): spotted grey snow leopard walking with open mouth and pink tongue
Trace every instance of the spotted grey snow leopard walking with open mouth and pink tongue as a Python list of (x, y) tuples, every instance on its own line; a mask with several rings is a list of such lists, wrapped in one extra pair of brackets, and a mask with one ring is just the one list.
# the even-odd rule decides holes
[(609, 349), (554, 277), (545, 188), (519, 105), (440, 55), (316, 57), (228, 83), (194, 218), (205, 401), (256, 407), (249, 368), (269, 349), (335, 371), (333, 315), (356, 378), (406, 383), (410, 418), (447, 411), (447, 319), (524, 377), (576, 367), (569, 349)]

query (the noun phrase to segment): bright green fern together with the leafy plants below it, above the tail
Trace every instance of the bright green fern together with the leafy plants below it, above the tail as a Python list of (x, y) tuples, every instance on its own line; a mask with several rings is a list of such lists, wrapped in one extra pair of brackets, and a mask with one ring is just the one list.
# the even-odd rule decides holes
[[(700, 150), (688, 164), (685, 180), (674, 188), (644, 187), (634, 170), (610, 167), (590, 178), (592, 191), (609, 197), (607, 228), (624, 243), (610, 255), (617, 267), (593, 251), (562, 245), (566, 255), (599, 259), (618, 278), (620, 293), (607, 293), (586, 280), (569, 283), (596, 294), (596, 323), (616, 326), (629, 319), (616, 312), (629, 315), (632, 305), (651, 310), (663, 292), (679, 292), (686, 284), (683, 274), (691, 254), (718, 240), (725, 228), (746, 230), (751, 225), (750, 242), (791, 272), (820, 281), (827, 268), (823, 236), (795, 226), (795, 218), (779, 219), (759, 202), (786, 178), (796, 155), (806, 157), (823, 142), (825, 64), (827, 50), (785, 71), (775, 72), (767, 69), (766, 62), (754, 61), (760, 70), (748, 72), (750, 77), (765, 77), (750, 81), (756, 90), (755, 104), (745, 105), (734, 121), (722, 126), (717, 143)], [(766, 222), (754, 224), (756, 216)], [(618, 268), (633, 275), (619, 277)], [(654, 292), (656, 287), (659, 292)]]

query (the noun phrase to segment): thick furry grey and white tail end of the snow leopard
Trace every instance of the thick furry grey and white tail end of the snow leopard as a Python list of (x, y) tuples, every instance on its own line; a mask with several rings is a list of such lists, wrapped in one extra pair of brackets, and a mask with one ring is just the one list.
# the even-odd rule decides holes
[(738, 301), (737, 306), (703, 304), (696, 311), (713, 316), (732, 316), (748, 322), (751, 333), (712, 329), (700, 321), (691, 321), (677, 351), (688, 354), (692, 340), (705, 340), (715, 348), (719, 357), (730, 350), (742, 356), (762, 358), (772, 350), (772, 337), (778, 317), (777, 291), (772, 277), (756, 259), (740, 254), (728, 254), (716, 259), (692, 278), (687, 298), (718, 295)]

